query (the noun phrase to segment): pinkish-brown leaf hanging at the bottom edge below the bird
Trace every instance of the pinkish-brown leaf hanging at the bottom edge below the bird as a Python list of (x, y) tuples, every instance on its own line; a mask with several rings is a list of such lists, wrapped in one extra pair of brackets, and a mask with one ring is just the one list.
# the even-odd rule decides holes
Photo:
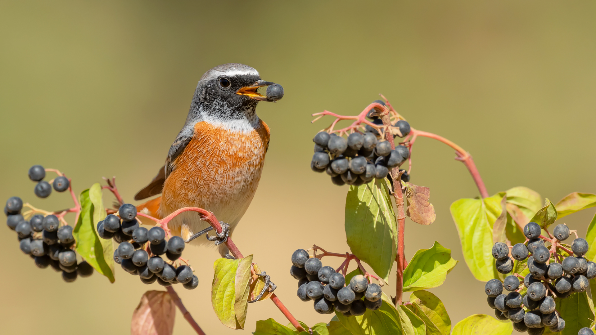
[(172, 335), (176, 305), (166, 291), (147, 291), (132, 314), (131, 335)]

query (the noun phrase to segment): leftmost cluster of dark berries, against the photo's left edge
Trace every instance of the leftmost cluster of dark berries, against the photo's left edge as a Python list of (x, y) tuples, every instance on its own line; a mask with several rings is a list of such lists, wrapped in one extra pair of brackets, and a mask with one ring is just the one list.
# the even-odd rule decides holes
[(33, 215), (26, 221), (21, 215), (21, 209), (23, 200), (11, 197), (6, 201), (4, 213), (8, 216), (8, 228), (18, 235), (21, 251), (30, 255), (35, 260), (35, 265), (42, 269), (51, 266), (55, 271), (62, 272), (62, 278), (67, 283), (75, 281), (78, 276), (89, 277), (93, 274), (93, 267), (89, 263), (85, 260), (77, 262), (76, 252), (73, 250), (73, 227), (61, 225), (55, 215)]

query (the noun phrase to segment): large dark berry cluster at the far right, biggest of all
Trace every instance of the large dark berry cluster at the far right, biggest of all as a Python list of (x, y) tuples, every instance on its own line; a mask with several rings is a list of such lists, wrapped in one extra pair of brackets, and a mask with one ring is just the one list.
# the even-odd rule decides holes
[[(596, 263), (583, 258), (588, 252), (588, 242), (576, 238), (571, 246), (573, 255), (563, 257), (556, 249), (563, 247), (558, 241), (569, 238), (566, 225), (557, 225), (552, 238), (542, 236), (541, 228), (535, 222), (527, 224), (523, 232), (526, 244), (509, 247), (497, 242), (492, 247), (492, 256), (496, 259), (497, 271), (502, 274), (513, 270), (513, 259), (522, 261), (527, 258), (530, 273), (526, 277), (508, 275), (503, 283), (498, 279), (489, 280), (485, 286), (488, 304), (495, 309), (499, 320), (513, 321), (517, 331), (527, 331), (530, 335), (544, 333), (545, 327), (553, 332), (562, 331), (565, 320), (555, 311), (554, 298), (564, 299), (574, 292), (581, 293), (588, 288), (588, 280), (596, 277)], [(551, 243), (550, 248), (545, 246), (545, 240)], [(520, 287), (520, 278), (523, 278), (523, 287)], [(527, 290), (522, 295), (520, 292), (524, 287)], [(504, 294), (503, 289), (509, 293)], [(589, 328), (583, 328), (579, 334), (594, 335)]]

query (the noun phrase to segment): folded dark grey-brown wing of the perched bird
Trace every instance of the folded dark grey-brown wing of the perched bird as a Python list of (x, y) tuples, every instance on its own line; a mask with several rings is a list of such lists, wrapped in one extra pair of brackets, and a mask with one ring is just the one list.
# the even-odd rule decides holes
[(184, 148), (187, 147), (188, 143), (193, 139), (193, 136), (194, 125), (182, 128), (182, 131), (180, 131), (178, 137), (176, 137), (167, 153), (165, 165), (159, 169), (159, 173), (157, 173), (157, 176), (153, 178), (149, 185), (145, 186), (141, 191), (138, 191), (138, 193), (135, 194), (135, 200), (142, 200), (162, 193), (163, 184), (166, 182), (167, 176), (176, 169), (176, 166), (174, 165), (176, 158), (184, 151)]

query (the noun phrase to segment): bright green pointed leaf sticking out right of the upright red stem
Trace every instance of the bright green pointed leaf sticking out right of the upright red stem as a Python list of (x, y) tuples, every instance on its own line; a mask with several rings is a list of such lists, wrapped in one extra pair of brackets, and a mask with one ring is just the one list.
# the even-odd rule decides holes
[(438, 287), (457, 265), (451, 249), (434, 241), (430, 249), (418, 250), (403, 271), (403, 291), (417, 291)]

